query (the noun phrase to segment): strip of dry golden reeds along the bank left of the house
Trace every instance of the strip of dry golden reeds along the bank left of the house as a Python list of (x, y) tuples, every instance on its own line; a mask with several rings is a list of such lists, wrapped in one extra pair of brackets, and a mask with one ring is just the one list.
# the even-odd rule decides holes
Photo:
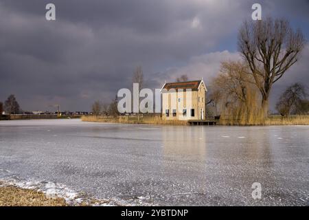
[(122, 124), (165, 124), (165, 125), (187, 125), (187, 121), (162, 120), (160, 116), (146, 117), (104, 117), (104, 116), (82, 116), (83, 122), (108, 122)]

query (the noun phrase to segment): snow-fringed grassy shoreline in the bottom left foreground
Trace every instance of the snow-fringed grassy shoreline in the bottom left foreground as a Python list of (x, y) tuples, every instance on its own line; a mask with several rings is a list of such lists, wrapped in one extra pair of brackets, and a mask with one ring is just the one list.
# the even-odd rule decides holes
[[(0, 169), (1, 171), (1, 169)], [(27, 179), (0, 179), (1, 206), (140, 206), (138, 201), (97, 199), (62, 184)], [(143, 206), (155, 204), (143, 203)]]

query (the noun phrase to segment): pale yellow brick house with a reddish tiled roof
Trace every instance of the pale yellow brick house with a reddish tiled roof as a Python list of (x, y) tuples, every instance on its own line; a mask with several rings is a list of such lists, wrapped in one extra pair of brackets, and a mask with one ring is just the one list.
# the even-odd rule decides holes
[[(191, 98), (186, 91), (191, 89)], [(165, 83), (162, 93), (163, 120), (205, 120), (207, 88), (202, 80)], [(191, 103), (186, 103), (191, 102)], [(178, 109), (178, 110), (177, 110)]]

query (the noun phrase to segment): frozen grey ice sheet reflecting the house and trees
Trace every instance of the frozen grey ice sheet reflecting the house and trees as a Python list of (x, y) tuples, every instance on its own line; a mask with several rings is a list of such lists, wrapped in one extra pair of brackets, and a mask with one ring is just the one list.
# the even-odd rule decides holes
[[(0, 179), (100, 199), (185, 206), (309, 205), (309, 126), (0, 121)], [(262, 186), (253, 199), (251, 186)]]

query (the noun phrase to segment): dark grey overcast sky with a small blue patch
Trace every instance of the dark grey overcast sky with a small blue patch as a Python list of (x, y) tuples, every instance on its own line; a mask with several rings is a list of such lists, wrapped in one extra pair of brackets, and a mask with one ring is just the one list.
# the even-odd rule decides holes
[[(56, 5), (56, 21), (45, 5)], [(146, 87), (181, 74), (205, 83), (220, 61), (238, 59), (237, 33), (251, 19), (285, 17), (309, 39), (309, 1), (0, 0), (0, 100), (15, 94), (23, 110), (89, 111), (131, 87), (137, 65)], [(309, 45), (273, 86), (275, 100), (293, 82), (309, 84)]]

